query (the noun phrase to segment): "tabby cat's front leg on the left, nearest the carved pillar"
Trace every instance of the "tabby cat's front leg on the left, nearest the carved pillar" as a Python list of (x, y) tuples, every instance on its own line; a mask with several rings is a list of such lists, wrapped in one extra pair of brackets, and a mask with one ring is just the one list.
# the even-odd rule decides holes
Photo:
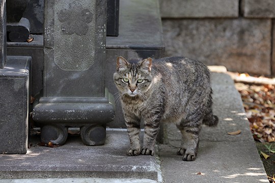
[(127, 127), (127, 132), (130, 140), (130, 148), (127, 149), (126, 154), (128, 156), (137, 156), (141, 154), (140, 145), (140, 121), (136, 118), (124, 114), (125, 124)]

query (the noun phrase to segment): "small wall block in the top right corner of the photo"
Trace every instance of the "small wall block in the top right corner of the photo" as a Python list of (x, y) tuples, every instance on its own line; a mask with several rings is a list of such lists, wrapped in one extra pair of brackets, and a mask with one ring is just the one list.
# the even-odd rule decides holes
[(242, 12), (244, 17), (274, 18), (275, 1), (273, 0), (243, 0)]

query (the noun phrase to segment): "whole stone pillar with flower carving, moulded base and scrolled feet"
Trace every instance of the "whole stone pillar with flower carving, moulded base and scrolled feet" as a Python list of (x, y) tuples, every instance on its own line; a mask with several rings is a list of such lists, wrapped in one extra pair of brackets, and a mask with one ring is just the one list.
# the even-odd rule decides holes
[(80, 127), (87, 145), (105, 142), (114, 98), (104, 85), (106, 0), (45, 0), (43, 94), (33, 110), (41, 140), (63, 144)]

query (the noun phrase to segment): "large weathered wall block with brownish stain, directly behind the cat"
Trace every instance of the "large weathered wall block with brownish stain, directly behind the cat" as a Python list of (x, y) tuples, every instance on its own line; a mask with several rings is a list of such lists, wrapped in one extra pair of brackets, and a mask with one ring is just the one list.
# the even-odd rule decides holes
[(163, 20), (166, 56), (186, 56), (229, 71), (270, 75), (271, 20)]

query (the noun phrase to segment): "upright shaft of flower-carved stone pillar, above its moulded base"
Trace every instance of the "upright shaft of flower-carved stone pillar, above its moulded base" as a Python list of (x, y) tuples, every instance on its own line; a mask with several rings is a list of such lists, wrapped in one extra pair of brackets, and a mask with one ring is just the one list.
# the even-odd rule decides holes
[(106, 1), (47, 1), (45, 10), (44, 97), (103, 97)]

